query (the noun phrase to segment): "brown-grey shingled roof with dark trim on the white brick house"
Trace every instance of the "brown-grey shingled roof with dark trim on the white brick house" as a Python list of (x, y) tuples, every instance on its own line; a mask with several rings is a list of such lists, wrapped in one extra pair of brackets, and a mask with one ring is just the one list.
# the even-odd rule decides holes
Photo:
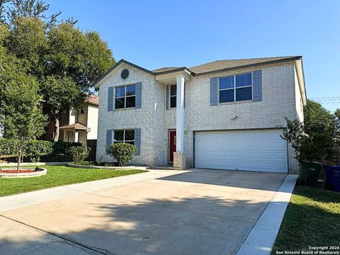
[(147, 74), (152, 74), (154, 76), (162, 75), (162, 74), (169, 74), (172, 72), (179, 72), (179, 71), (188, 71), (192, 76), (196, 75), (203, 75), (203, 74), (211, 74), (214, 72), (225, 72), (232, 69), (241, 69), (246, 67), (254, 67), (263, 64), (274, 64), (278, 62), (286, 62), (286, 61), (293, 61), (293, 60), (300, 60), (301, 56), (287, 56), (287, 57), (259, 57), (259, 58), (251, 58), (251, 59), (240, 59), (240, 60), (216, 60), (214, 62), (208, 62), (205, 64), (200, 64), (195, 67), (162, 67), (159, 69), (154, 69), (150, 71), (143, 67), (137, 66), (137, 64), (132, 64), (126, 60), (120, 60), (115, 64), (106, 74), (103, 75), (100, 79), (98, 79), (94, 86), (98, 86), (98, 84), (105, 79), (115, 68), (117, 68), (120, 64), (125, 63), (129, 64), (132, 67), (140, 69)]

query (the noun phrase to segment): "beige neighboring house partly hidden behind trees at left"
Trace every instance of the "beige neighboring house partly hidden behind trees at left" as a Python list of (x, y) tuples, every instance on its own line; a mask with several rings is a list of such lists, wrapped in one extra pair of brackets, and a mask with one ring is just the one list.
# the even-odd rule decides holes
[(91, 95), (78, 111), (69, 111), (65, 116), (67, 122), (60, 127), (64, 142), (81, 142), (87, 145), (87, 140), (97, 140), (98, 103), (98, 96)]

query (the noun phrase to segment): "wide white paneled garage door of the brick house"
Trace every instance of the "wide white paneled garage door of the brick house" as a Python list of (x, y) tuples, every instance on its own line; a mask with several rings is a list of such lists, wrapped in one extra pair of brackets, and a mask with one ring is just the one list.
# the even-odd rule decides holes
[(283, 130), (196, 132), (197, 168), (287, 173)]

